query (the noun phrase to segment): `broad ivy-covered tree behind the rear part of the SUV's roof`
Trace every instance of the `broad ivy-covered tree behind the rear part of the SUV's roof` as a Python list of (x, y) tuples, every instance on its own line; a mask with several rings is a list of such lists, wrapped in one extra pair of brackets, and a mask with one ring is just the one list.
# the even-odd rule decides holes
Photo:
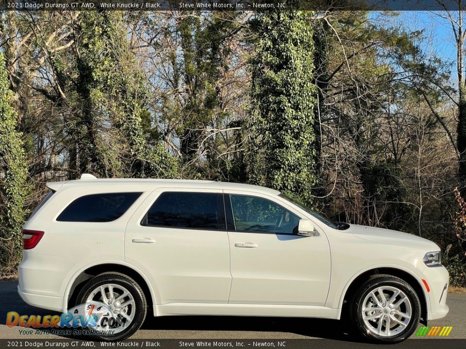
[[(76, 28), (76, 97), (79, 109), (68, 134), (79, 150), (80, 172), (105, 177), (176, 175), (176, 161), (161, 140), (148, 143), (148, 91), (126, 33), (122, 13), (83, 13)], [(150, 124), (150, 121), (149, 121)], [(103, 136), (101, 129), (107, 131)], [(70, 152), (70, 160), (74, 154)]]

